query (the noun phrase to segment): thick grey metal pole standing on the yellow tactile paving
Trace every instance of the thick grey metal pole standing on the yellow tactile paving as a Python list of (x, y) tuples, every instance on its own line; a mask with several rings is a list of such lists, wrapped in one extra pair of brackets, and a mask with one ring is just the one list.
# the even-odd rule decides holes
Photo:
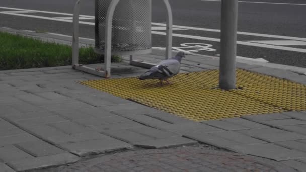
[(236, 87), (238, 0), (222, 0), (221, 4), (219, 87), (230, 90)]

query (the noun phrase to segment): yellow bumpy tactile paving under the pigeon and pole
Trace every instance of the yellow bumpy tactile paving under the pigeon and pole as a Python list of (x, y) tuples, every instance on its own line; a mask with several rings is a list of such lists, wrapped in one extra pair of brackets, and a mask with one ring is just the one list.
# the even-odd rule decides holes
[(194, 121), (306, 110), (305, 85), (238, 69), (242, 89), (222, 91), (216, 89), (218, 75), (218, 70), (181, 73), (163, 87), (135, 77), (80, 83)]

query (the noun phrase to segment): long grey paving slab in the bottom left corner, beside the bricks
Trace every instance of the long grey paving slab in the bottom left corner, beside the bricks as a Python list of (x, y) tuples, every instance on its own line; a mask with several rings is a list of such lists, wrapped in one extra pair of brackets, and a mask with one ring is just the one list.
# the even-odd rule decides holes
[(22, 159), (10, 161), (8, 164), (17, 171), (38, 169), (43, 167), (58, 166), (78, 161), (80, 158), (71, 153), (61, 153), (50, 156), (38, 157), (35, 159)]

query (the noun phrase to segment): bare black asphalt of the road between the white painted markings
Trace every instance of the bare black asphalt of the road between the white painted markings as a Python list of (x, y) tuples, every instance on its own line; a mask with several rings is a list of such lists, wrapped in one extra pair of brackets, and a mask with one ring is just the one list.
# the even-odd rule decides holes
[[(174, 25), (199, 27), (208, 29), (220, 29), (221, 2), (201, 1), (201, 0), (169, 0), (172, 6)], [(273, 3), (293, 3), (306, 4), (304, 0), (244, 0), (239, 3), (238, 31), (260, 34), (271, 34), (279, 36), (291, 36), (306, 38), (306, 5), (290, 4), (263, 4), (246, 3), (250, 2), (273, 2)], [(83, 1), (81, 14), (94, 16), (94, 0)], [(73, 13), (73, 0), (1, 0), (0, 6), (32, 9), (41, 11), (52, 11), (61, 13)], [(166, 22), (166, 9), (162, 0), (153, 0), (153, 22)], [(2, 9), (1, 11), (12, 11)], [(54, 17), (55, 14), (31, 13), (30, 15)], [(62, 16), (62, 15), (58, 15)], [(65, 17), (65, 16), (63, 16)], [(26, 29), (42, 32), (53, 32), (66, 35), (72, 35), (72, 24), (45, 19), (35, 19), (29, 17), (13, 16), (0, 14), (0, 27), (11, 27), (14, 29)], [(94, 22), (93, 20), (82, 20)], [(94, 38), (94, 26), (80, 25), (81, 37)], [(165, 31), (160, 31), (165, 32)], [(176, 34), (202, 36), (219, 38), (219, 32), (207, 32), (199, 30), (174, 30)], [(239, 41), (250, 40), (284, 40), (282, 38), (258, 37), (250, 35), (238, 35)], [(306, 40), (306, 39), (305, 39)], [(211, 44), (216, 51), (199, 51), (200, 54), (216, 55), (220, 54), (219, 42), (198, 40), (191, 38), (173, 38), (173, 46), (180, 46), (182, 43), (205, 43)], [(153, 35), (153, 46), (165, 47), (165, 37)], [(294, 47), (306, 49), (306, 46), (292, 45), (285, 47)], [(237, 46), (237, 55), (248, 58), (264, 58), (271, 63), (293, 65), (306, 67), (306, 53), (289, 50), (279, 50), (270, 48), (261, 48), (254, 46)]]

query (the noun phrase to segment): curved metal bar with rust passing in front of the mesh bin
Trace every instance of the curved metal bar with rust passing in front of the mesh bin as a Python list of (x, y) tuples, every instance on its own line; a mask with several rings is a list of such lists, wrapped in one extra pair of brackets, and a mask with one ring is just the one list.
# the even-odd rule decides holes
[(106, 14), (105, 40), (104, 40), (104, 72), (105, 78), (111, 77), (111, 53), (112, 53), (112, 22), (117, 4), (120, 0), (112, 0)]

